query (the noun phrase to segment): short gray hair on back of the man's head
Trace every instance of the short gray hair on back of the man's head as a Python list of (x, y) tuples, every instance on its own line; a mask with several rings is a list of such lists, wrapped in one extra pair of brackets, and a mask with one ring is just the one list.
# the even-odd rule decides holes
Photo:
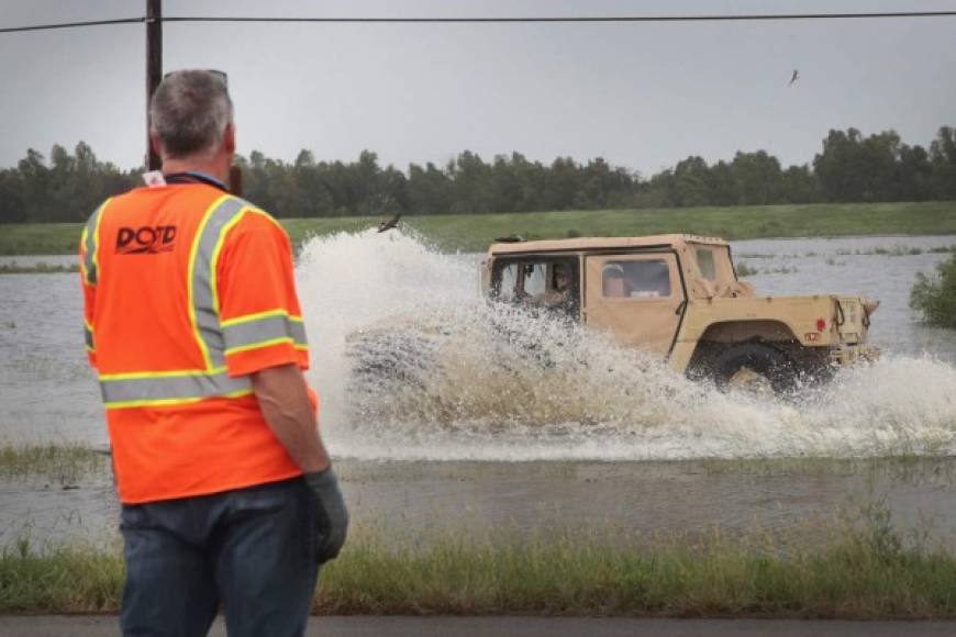
[(149, 100), (149, 121), (168, 157), (216, 147), (232, 122), (225, 77), (208, 70), (170, 72)]

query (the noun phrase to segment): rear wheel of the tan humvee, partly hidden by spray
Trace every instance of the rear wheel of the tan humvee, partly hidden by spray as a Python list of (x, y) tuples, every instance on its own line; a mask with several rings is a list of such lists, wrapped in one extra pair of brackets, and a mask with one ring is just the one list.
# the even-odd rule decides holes
[(788, 393), (797, 380), (790, 358), (759, 343), (729, 347), (718, 355), (712, 372), (719, 389), (755, 395)]

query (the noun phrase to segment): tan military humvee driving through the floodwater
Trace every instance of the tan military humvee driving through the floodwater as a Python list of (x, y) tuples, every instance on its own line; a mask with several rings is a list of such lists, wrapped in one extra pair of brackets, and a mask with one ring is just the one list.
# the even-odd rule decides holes
[(730, 246), (718, 238), (496, 243), (482, 264), (482, 289), (493, 300), (608, 331), (719, 387), (756, 381), (783, 392), (801, 377), (825, 377), (835, 366), (878, 355), (866, 345), (878, 302), (758, 297), (737, 279)]

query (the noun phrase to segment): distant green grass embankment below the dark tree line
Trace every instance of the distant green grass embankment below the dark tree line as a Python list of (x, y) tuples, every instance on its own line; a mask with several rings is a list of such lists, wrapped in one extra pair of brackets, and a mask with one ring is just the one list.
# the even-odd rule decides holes
[[(377, 217), (280, 220), (297, 244), (311, 235), (373, 227)], [(956, 234), (956, 202), (753, 205), (653, 210), (570, 210), (407, 216), (444, 250), (480, 252), (500, 236), (637, 236), (691, 233), (730, 239), (872, 234)], [(73, 254), (81, 224), (13, 224), (0, 230), (0, 255)]]

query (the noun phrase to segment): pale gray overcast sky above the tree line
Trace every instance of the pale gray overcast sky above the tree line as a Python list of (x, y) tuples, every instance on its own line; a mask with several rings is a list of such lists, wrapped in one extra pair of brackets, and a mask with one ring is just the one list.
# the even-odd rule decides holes
[[(956, 0), (165, 0), (166, 15), (605, 15), (956, 10)], [(130, 18), (144, 0), (0, 0), (0, 26)], [(165, 70), (229, 72), (240, 152), (444, 164), (519, 150), (645, 174), (830, 128), (927, 145), (956, 125), (956, 18), (644, 24), (164, 25)], [(0, 166), (80, 139), (142, 161), (145, 26), (0, 34)], [(793, 69), (800, 79), (788, 81)]]

